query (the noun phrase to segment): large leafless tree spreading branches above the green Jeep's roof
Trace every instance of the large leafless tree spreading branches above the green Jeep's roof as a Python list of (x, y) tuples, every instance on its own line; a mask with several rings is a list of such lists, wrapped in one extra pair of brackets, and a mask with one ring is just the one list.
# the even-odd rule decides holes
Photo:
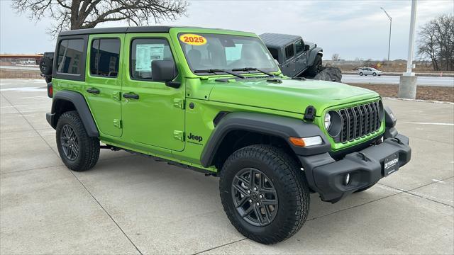
[(32, 20), (50, 16), (49, 33), (55, 37), (61, 30), (94, 28), (106, 21), (127, 21), (135, 26), (151, 21), (175, 21), (187, 11), (185, 0), (13, 0), (18, 13), (30, 13)]

